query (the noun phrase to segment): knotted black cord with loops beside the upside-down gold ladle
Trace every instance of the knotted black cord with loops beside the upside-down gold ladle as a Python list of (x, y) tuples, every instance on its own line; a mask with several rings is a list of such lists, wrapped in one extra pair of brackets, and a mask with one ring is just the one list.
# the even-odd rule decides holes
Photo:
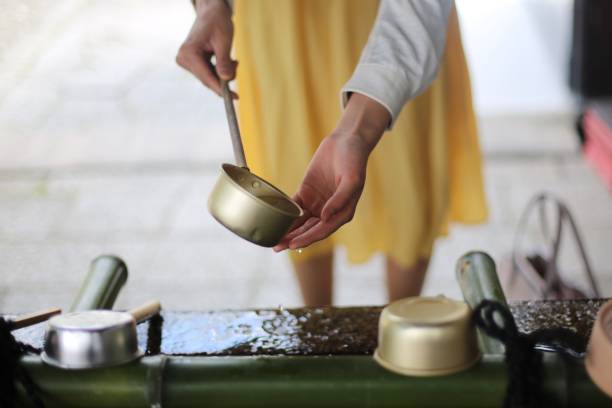
[(483, 300), (474, 309), (474, 320), (488, 336), (501, 341), (506, 347), (508, 387), (504, 408), (543, 406), (542, 353), (534, 349), (536, 344), (546, 344), (551, 349), (571, 356), (580, 355), (586, 347), (584, 338), (568, 329), (541, 329), (530, 334), (520, 333), (510, 310), (492, 300)]

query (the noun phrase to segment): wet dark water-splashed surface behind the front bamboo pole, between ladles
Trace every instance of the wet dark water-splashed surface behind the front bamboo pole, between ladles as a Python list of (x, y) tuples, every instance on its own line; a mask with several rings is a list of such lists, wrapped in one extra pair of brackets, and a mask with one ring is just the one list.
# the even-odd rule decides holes
[[(565, 327), (588, 338), (605, 300), (529, 301), (511, 304), (519, 329)], [(148, 355), (368, 355), (376, 348), (381, 307), (164, 311), (138, 326)], [(45, 324), (15, 331), (40, 350)]]

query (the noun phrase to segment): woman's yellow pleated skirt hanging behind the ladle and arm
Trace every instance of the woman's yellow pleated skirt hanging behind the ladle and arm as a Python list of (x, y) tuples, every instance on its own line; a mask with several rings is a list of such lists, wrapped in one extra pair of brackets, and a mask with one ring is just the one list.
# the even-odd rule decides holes
[[(341, 114), (376, 18), (377, 0), (238, 0), (239, 121), (251, 170), (292, 195)], [(349, 261), (381, 252), (403, 266), (429, 257), (450, 222), (487, 217), (469, 74), (456, 12), (437, 79), (402, 110), (368, 162), (353, 220), (294, 261), (344, 246)]]

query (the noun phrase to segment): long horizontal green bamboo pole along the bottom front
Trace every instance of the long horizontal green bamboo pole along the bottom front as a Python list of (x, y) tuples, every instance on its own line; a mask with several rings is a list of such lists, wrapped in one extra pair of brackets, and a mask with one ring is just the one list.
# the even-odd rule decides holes
[[(121, 367), (66, 371), (25, 357), (48, 408), (191, 407), (500, 407), (503, 356), (443, 377), (393, 374), (370, 356), (144, 357)], [(581, 360), (544, 359), (546, 406), (600, 407), (610, 400)], [(21, 405), (28, 406), (21, 398)]]

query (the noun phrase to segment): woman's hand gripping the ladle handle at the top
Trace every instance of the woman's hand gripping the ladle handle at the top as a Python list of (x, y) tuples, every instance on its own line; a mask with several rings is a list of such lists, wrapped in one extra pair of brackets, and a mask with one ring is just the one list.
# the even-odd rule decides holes
[(234, 36), (232, 12), (225, 0), (196, 0), (195, 5), (197, 17), (176, 62), (221, 95), (219, 78), (230, 81), (236, 76), (237, 62), (230, 57)]

